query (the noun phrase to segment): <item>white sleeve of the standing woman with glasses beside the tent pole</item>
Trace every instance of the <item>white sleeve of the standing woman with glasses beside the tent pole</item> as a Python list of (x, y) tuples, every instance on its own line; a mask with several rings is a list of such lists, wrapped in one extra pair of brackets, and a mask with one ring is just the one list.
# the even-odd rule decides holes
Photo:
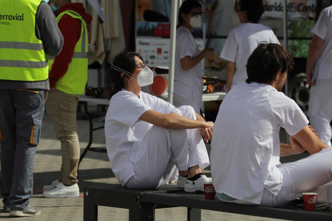
[(196, 52), (196, 41), (192, 34), (184, 33), (179, 38), (178, 49), (179, 49), (179, 58), (182, 59), (186, 56), (190, 56), (190, 58)]

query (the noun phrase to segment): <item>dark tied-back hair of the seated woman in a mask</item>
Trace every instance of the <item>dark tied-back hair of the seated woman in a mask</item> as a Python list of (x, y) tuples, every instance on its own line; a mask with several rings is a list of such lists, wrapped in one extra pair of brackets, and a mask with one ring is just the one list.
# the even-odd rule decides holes
[[(118, 93), (119, 91), (121, 91), (122, 88), (124, 88), (124, 79), (129, 78), (128, 75), (131, 76), (131, 74), (135, 71), (136, 68), (135, 56), (137, 56), (139, 59), (143, 61), (143, 58), (137, 52), (124, 52), (122, 54), (117, 55), (114, 58), (112, 65), (116, 66), (117, 68), (111, 67), (110, 70), (108, 71), (108, 77), (111, 80), (109, 99), (111, 99), (114, 94)], [(122, 72), (120, 69), (131, 74)], [(121, 73), (125, 73), (124, 77), (121, 77)]]

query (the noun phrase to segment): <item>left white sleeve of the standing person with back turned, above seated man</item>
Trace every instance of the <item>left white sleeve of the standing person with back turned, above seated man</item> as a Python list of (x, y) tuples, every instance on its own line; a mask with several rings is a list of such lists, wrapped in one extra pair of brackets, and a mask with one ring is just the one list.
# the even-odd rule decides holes
[(235, 37), (235, 32), (234, 29), (232, 29), (230, 30), (226, 42), (222, 48), (220, 58), (235, 63), (238, 47), (239, 46)]

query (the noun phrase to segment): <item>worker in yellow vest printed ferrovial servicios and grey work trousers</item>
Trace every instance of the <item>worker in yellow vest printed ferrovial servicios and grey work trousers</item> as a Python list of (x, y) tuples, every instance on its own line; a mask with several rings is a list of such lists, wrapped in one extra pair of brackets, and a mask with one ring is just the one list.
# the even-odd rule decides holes
[(41, 0), (0, 0), (0, 161), (3, 209), (11, 216), (40, 215), (29, 205), (33, 163), (49, 90), (48, 55), (62, 34)]

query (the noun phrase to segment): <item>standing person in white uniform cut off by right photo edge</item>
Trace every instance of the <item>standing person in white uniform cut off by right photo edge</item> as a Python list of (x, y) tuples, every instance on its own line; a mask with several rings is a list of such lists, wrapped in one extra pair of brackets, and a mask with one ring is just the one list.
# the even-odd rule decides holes
[(319, 138), (331, 148), (332, 6), (323, 9), (311, 33), (306, 67), (307, 83), (311, 85), (308, 116)]

